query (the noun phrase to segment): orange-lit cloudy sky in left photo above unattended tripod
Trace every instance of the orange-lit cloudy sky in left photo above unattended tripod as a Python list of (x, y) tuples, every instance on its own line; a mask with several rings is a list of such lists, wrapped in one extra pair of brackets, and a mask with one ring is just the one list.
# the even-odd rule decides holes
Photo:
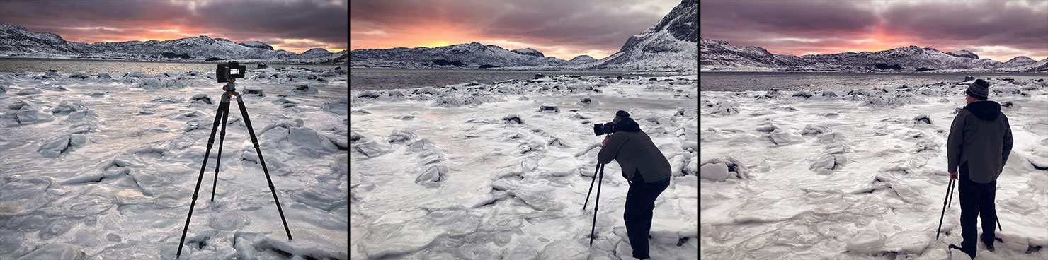
[(0, 1), (0, 23), (99, 43), (197, 36), (301, 53), (348, 47), (346, 0)]

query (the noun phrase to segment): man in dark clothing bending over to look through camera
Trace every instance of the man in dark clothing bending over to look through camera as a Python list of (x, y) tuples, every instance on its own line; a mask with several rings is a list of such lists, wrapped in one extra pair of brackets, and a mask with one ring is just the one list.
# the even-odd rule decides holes
[(613, 134), (604, 139), (597, 162), (618, 162), (623, 178), (630, 183), (626, 194), (626, 233), (633, 247), (633, 257), (648, 259), (648, 233), (652, 229), (655, 198), (670, 186), (670, 161), (659, 151), (640, 125), (625, 111), (615, 113)]

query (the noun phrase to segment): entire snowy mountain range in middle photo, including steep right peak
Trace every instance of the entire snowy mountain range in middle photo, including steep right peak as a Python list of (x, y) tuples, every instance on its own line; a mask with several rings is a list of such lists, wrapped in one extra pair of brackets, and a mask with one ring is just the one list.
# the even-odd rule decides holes
[(354, 68), (616, 69), (695, 71), (699, 58), (698, 0), (682, 0), (655, 26), (631, 37), (615, 54), (571, 61), (545, 56), (531, 48), (506, 50), (480, 43), (436, 48), (359, 49), (349, 53)]

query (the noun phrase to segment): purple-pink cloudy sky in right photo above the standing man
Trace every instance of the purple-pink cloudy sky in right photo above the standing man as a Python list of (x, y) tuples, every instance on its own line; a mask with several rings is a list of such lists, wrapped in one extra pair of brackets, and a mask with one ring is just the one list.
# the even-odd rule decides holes
[(1048, 57), (1046, 0), (702, 0), (700, 37), (776, 54), (966, 49), (998, 62)]

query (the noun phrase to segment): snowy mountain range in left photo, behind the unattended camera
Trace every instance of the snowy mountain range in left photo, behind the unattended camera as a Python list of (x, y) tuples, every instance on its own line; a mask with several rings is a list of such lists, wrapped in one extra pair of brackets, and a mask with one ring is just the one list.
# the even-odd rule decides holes
[(68, 42), (54, 33), (35, 32), (0, 23), (0, 55), (17, 57), (99, 58), (149, 62), (205, 62), (235, 60), (244, 63), (337, 64), (346, 51), (311, 49), (301, 54), (272, 50), (262, 42), (234, 43), (206, 36), (168, 41), (122, 43)]

